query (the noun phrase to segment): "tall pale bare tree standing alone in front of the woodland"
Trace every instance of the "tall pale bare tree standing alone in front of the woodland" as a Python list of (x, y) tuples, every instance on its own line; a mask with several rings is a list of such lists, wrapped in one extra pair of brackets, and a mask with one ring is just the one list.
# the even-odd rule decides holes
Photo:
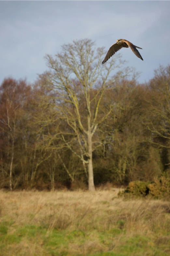
[(95, 190), (92, 151), (100, 143), (92, 138), (114, 105), (101, 109), (101, 100), (106, 91), (115, 87), (116, 79), (130, 72), (129, 69), (120, 70), (124, 62), (120, 55), (101, 65), (105, 53), (104, 48), (96, 49), (94, 42), (88, 39), (64, 44), (62, 52), (55, 58), (46, 56), (50, 70), (40, 76), (48, 88), (55, 90), (53, 100), (60, 113), (60, 135), (65, 145), (81, 159), (88, 176), (89, 191)]

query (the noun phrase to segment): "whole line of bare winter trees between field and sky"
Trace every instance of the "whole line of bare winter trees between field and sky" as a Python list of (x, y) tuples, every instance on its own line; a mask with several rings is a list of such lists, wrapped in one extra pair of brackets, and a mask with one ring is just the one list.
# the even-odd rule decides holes
[(101, 65), (104, 53), (74, 41), (46, 56), (49, 70), (34, 84), (4, 79), (0, 188), (92, 191), (169, 172), (170, 65), (138, 84), (118, 55)]

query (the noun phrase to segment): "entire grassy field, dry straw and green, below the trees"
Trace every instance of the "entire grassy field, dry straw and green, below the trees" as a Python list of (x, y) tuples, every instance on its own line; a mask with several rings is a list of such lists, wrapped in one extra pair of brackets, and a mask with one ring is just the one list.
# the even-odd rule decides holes
[(0, 191), (0, 256), (170, 255), (170, 202), (118, 191)]

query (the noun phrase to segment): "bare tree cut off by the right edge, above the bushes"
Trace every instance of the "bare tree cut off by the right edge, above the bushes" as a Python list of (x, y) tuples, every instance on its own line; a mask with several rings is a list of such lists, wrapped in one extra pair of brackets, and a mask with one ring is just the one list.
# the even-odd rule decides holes
[(150, 142), (170, 148), (170, 65), (156, 69), (147, 85), (148, 112), (144, 123), (152, 135)]

